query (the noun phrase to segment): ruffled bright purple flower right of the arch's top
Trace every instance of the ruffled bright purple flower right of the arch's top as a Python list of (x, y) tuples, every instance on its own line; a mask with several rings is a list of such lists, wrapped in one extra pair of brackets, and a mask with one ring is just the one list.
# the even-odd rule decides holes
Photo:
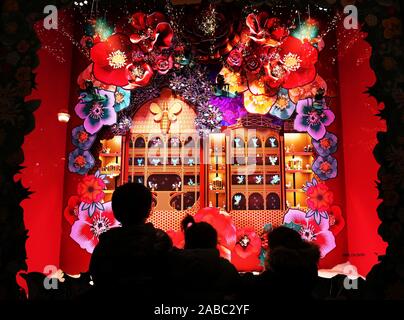
[(222, 125), (231, 126), (238, 119), (247, 115), (247, 111), (243, 106), (243, 97), (212, 97), (209, 102), (211, 105), (218, 107), (223, 114)]

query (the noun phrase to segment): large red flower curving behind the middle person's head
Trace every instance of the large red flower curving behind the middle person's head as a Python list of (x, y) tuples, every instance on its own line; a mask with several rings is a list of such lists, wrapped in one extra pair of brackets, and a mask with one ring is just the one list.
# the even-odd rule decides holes
[[(196, 222), (207, 222), (216, 229), (218, 235), (219, 250), (230, 253), (236, 244), (236, 227), (231, 216), (222, 213), (218, 208), (200, 209), (194, 216)], [(227, 256), (226, 256), (227, 257)]]

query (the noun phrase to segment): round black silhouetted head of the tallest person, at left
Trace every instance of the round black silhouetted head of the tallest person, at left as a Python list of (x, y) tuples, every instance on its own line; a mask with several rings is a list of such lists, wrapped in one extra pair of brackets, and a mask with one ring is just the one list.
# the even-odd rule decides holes
[(151, 206), (152, 194), (140, 183), (123, 184), (112, 195), (112, 210), (123, 226), (145, 223)]

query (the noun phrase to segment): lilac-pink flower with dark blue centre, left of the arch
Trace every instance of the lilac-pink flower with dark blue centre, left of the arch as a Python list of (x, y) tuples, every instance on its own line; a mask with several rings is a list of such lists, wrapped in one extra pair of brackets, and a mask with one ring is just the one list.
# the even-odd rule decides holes
[(114, 109), (114, 93), (95, 89), (94, 93), (83, 92), (80, 102), (76, 105), (76, 114), (84, 120), (84, 128), (90, 134), (98, 132), (103, 125), (116, 122)]

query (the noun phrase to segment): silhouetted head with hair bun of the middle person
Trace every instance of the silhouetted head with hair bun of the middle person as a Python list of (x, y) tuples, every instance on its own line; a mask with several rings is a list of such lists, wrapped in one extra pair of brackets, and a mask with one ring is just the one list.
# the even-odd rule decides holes
[(195, 222), (187, 215), (181, 222), (185, 234), (185, 249), (215, 249), (217, 246), (217, 232), (207, 222)]

